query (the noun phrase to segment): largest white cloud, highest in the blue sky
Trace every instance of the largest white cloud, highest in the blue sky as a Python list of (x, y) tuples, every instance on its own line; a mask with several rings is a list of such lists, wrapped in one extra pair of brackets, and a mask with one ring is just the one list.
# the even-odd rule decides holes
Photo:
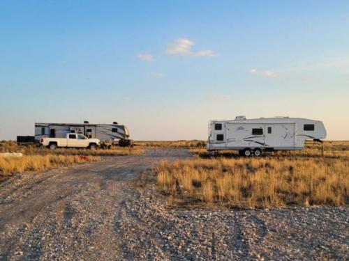
[(182, 55), (182, 56), (207, 56), (214, 57), (218, 56), (218, 54), (214, 53), (211, 50), (202, 50), (198, 52), (192, 52), (191, 47), (195, 45), (195, 42), (189, 39), (178, 39), (168, 45), (165, 48), (165, 53), (169, 55)]

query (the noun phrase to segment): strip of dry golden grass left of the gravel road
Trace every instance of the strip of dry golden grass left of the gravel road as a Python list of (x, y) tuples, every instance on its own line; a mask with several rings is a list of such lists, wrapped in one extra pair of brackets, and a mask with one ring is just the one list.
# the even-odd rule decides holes
[(101, 157), (82, 155), (26, 155), (23, 157), (0, 157), (0, 176), (6, 177), (24, 171), (43, 171), (59, 166), (100, 161)]

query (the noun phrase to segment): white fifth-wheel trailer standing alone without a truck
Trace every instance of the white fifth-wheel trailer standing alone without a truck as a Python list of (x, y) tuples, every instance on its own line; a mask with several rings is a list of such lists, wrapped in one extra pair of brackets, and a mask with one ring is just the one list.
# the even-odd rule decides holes
[(239, 155), (260, 156), (263, 151), (302, 150), (307, 139), (326, 138), (321, 121), (303, 118), (211, 120), (207, 150), (239, 150)]

